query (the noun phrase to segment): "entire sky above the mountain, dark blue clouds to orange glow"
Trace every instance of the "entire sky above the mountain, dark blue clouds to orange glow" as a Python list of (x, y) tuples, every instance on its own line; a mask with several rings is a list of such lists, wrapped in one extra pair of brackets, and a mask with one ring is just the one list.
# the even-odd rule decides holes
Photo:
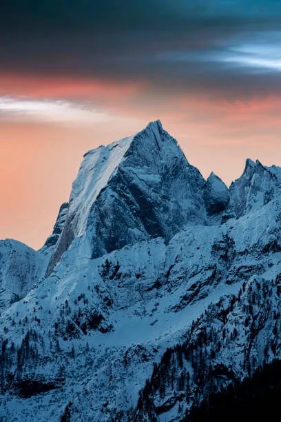
[(204, 177), (281, 165), (280, 0), (4, 0), (0, 239), (40, 248), (83, 154), (160, 119)]

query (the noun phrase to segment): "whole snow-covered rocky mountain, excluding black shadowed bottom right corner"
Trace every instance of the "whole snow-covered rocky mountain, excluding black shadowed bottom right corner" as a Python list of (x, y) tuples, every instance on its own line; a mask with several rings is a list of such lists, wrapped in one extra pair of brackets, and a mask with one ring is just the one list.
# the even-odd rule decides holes
[(280, 174), (205, 181), (159, 122), (87, 153), (42, 250), (21, 245), (23, 299), (1, 295), (0, 419), (179, 421), (281, 358)]

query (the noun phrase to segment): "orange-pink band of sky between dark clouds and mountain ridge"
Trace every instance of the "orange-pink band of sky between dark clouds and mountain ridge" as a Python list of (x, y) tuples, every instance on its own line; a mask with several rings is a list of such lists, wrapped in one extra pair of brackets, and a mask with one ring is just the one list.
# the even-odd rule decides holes
[(52, 231), (83, 153), (149, 121), (160, 119), (205, 177), (214, 171), (230, 183), (247, 157), (281, 164), (277, 95), (238, 101), (156, 92), (144, 81), (0, 74), (0, 97), (0, 238), (34, 248)]

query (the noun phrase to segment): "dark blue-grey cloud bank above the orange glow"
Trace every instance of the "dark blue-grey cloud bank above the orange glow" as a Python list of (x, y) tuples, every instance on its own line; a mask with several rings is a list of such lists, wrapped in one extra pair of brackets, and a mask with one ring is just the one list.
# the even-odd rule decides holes
[(1, 72), (145, 81), (147, 94), (281, 89), (278, 0), (11, 0), (1, 19)]

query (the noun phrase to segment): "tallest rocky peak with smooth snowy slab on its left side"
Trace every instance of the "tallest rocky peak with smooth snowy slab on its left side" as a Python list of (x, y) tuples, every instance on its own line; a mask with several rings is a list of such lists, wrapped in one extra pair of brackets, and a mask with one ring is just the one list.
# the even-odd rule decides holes
[(200, 172), (160, 121), (85, 154), (50, 274), (74, 239), (98, 257), (154, 237), (169, 241), (193, 221), (205, 223)]

